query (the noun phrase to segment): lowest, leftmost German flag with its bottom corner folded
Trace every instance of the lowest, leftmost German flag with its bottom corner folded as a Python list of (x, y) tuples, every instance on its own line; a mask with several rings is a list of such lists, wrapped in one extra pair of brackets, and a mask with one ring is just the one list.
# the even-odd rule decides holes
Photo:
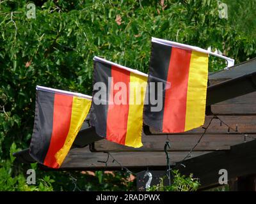
[(92, 98), (84, 94), (36, 86), (36, 109), (30, 155), (51, 168), (60, 168), (84, 119)]

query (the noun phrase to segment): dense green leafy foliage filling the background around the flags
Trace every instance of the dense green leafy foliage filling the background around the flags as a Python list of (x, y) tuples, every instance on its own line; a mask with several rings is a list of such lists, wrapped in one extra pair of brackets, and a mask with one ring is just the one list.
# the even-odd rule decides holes
[[(223, 0), (224, 1), (224, 0)], [(36, 18), (27, 18), (35, 3)], [(148, 72), (150, 38), (217, 48), (236, 63), (256, 56), (255, 0), (232, 1), (228, 19), (219, 18), (215, 0), (0, 1), (0, 190), (132, 190), (128, 173), (36, 170), (36, 186), (26, 186), (30, 166), (11, 152), (29, 146), (35, 87), (92, 92), (93, 56)], [(225, 67), (210, 57), (209, 70)], [(32, 165), (36, 168), (36, 165)]]

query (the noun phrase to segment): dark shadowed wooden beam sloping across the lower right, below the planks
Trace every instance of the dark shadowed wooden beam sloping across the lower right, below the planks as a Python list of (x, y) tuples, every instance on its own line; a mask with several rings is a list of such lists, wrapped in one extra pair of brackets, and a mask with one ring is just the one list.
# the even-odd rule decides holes
[(193, 173), (200, 179), (201, 188), (218, 185), (219, 170), (228, 172), (228, 179), (256, 172), (256, 140), (234, 145), (227, 151), (211, 152), (184, 161), (186, 167), (177, 165), (182, 174)]

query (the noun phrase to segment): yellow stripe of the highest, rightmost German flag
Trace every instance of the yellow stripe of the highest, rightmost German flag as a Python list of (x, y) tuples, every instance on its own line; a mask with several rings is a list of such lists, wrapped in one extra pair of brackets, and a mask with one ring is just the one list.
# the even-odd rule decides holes
[(204, 124), (207, 78), (208, 55), (193, 51), (189, 66), (185, 131)]

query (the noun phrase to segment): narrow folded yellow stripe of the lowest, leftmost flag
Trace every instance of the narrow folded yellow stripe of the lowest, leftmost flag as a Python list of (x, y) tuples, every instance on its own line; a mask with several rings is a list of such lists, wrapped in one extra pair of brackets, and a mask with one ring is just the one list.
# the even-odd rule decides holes
[(73, 96), (72, 114), (68, 135), (63, 147), (55, 154), (56, 161), (59, 166), (61, 166), (65, 157), (67, 156), (68, 151), (70, 150), (70, 147), (72, 146), (72, 143), (74, 142), (76, 135), (84, 122), (84, 119), (88, 115), (91, 103), (92, 101), (89, 99)]

